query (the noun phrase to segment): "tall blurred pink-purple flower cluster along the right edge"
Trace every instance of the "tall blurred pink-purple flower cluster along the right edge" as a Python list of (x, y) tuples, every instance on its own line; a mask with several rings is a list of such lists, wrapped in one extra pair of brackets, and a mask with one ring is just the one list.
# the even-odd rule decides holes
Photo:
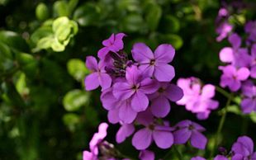
[(249, 22), (245, 25), (245, 31), (249, 34), (245, 41), (250, 43), (242, 47), (242, 38), (232, 33), (228, 37), (231, 47), (220, 50), (220, 61), (226, 64), (219, 67), (222, 71), (220, 86), (229, 87), (231, 92), (241, 90), (241, 108), (245, 114), (256, 111), (256, 44), (253, 43), (256, 28), (253, 24)]

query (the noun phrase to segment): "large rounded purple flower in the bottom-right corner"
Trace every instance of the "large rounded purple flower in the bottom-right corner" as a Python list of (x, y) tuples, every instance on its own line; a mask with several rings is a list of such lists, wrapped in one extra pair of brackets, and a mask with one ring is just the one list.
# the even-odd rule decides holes
[(247, 136), (241, 136), (232, 146), (234, 156), (232, 160), (255, 160), (256, 152), (254, 152), (254, 142)]

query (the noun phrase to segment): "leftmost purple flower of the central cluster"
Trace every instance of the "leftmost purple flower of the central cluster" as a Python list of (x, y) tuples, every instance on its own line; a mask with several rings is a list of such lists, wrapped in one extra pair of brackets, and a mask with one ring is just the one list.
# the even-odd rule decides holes
[(85, 89), (87, 91), (96, 89), (99, 86), (102, 87), (102, 90), (111, 87), (111, 77), (106, 73), (101, 61), (97, 64), (97, 59), (88, 56), (86, 66), (92, 70), (92, 73), (84, 79)]

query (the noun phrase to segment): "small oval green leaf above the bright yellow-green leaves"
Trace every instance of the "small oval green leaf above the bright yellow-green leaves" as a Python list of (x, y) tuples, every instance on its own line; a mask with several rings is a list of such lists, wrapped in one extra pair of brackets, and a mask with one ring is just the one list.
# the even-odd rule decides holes
[(69, 4), (64, 1), (57, 1), (54, 4), (55, 16), (69, 16)]

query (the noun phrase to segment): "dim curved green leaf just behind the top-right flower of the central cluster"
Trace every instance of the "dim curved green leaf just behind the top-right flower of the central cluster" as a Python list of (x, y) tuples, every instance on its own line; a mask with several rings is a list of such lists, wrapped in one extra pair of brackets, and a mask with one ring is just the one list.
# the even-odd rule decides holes
[(160, 35), (160, 41), (161, 43), (168, 43), (173, 45), (175, 49), (180, 49), (183, 46), (183, 39), (179, 35)]

